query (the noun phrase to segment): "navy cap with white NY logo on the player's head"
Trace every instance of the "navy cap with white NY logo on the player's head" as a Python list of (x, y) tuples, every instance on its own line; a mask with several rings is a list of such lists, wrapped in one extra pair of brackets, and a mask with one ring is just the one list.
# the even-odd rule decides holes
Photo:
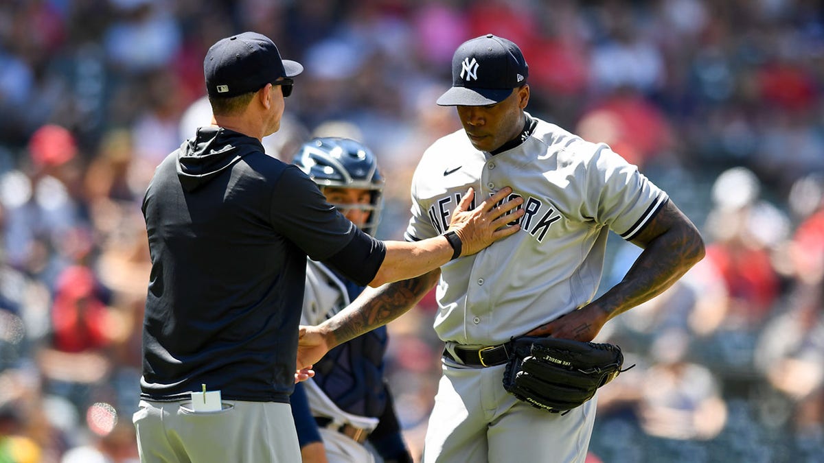
[(527, 77), (527, 61), (516, 44), (497, 35), (481, 35), (455, 50), (452, 88), (438, 98), (438, 105), (494, 105), (527, 83)]

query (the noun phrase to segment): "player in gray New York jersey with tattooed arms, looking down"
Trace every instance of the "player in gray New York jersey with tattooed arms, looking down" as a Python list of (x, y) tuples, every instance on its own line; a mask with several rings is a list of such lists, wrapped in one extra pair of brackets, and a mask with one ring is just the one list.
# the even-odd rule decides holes
[[(412, 180), (405, 238), (448, 234), (448, 219), (468, 186), (486, 198), (512, 185), (509, 197), (524, 200), (523, 216), (513, 217), (521, 229), (478, 255), (367, 290), (337, 316), (301, 328), (297, 360), (307, 365), (400, 316), (438, 282), (434, 328), (446, 349), (425, 463), (584, 461), (596, 400), (581, 397), (581, 405), (550, 413), (533, 400), (551, 403), (552, 395), (566, 394), (563, 388), (534, 381), (519, 400), (504, 389), (505, 372), (522, 356), (536, 355), (543, 366), (558, 361), (569, 372), (592, 371), (576, 364), (606, 348), (589, 344), (606, 321), (670, 287), (705, 254), (692, 222), (636, 166), (606, 144), (528, 114), (527, 82), (527, 62), (509, 40), (484, 35), (456, 50), (452, 88), (438, 105), (456, 106), (463, 129), (424, 152)], [(620, 283), (593, 300), (610, 231), (644, 250)], [(529, 339), (525, 346), (525, 335), (576, 347), (536, 348)], [(610, 373), (597, 375), (599, 381), (614, 376), (620, 363), (617, 355), (605, 358), (596, 370)], [(570, 390), (580, 387), (572, 383), (575, 375), (567, 377)]]

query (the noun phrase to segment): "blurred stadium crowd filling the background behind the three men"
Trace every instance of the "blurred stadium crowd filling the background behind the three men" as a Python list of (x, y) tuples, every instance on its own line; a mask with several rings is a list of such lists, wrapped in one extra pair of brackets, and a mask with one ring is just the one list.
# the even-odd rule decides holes
[[(824, 461), (824, 7), (815, 0), (0, 2), (0, 461), (137, 460), (157, 163), (208, 124), (203, 57), (244, 30), (303, 63), (267, 151), (358, 138), (402, 239), (412, 170), (459, 129), (435, 105), (462, 41), (519, 44), (531, 114), (609, 143), (700, 228), (707, 257), (612, 320), (592, 461)], [(602, 288), (639, 250), (612, 236)], [(436, 303), (390, 325), (423, 442)]]

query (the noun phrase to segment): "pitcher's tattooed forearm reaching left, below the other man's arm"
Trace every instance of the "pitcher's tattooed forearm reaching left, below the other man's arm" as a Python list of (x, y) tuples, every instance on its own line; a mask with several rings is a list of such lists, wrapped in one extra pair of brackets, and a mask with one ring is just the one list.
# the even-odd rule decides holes
[(440, 270), (433, 270), (417, 278), (368, 288), (344, 311), (326, 322), (333, 333), (334, 345), (343, 344), (405, 314), (432, 289), (439, 276)]

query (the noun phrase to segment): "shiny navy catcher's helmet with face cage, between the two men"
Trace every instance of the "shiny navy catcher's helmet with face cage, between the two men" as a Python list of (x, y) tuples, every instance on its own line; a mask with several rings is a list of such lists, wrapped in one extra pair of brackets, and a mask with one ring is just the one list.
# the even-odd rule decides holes
[(368, 189), (371, 193), (369, 204), (333, 205), (342, 213), (351, 208), (369, 211), (369, 219), (362, 229), (375, 236), (383, 208), (384, 180), (377, 170), (377, 159), (372, 150), (349, 138), (314, 138), (303, 143), (293, 163), (315, 180), (321, 191), (327, 186)]

